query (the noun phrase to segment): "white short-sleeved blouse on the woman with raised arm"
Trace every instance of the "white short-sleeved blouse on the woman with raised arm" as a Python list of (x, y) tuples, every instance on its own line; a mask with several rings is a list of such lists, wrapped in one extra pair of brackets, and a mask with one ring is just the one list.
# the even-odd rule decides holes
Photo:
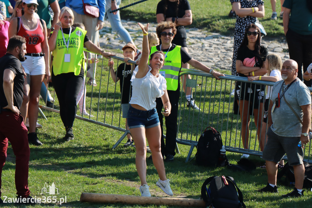
[(144, 107), (146, 110), (151, 110), (156, 107), (156, 97), (162, 97), (167, 89), (166, 79), (160, 74), (155, 77), (150, 71), (142, 77), (136, 78), (135, 75), (138, 72), (138, 66), (135, 67), (133, 75), (131, 77), (132, 85), (132, 97), (130, 104), (137, 104)]

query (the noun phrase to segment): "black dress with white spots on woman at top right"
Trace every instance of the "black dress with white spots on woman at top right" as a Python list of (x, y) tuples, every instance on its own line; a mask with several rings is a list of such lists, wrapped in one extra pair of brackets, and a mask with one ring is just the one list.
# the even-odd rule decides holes
[[(251, 8), (257, 7), (259, 4), (263, 5), (263, 0), (230, 0), (231, 4), (233, 2), (240, 2), (241, 8)], [(232, 75), (236, 76), (236, 57), (237, 57), (237, 50), (241, 46), (241, 42), (243, 42), (245, 29), (250, 23), (259, 22), (257, 17), (238, 17), (236, 16), (236, 23), (235, 23), (235, 31), (234, 31), (234, 49), (233, 49), (233, 59), (232, 59)]]

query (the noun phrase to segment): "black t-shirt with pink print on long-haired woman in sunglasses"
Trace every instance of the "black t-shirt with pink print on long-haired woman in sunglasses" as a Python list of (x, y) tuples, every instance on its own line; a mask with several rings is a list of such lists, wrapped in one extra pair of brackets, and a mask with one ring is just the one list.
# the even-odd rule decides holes
[[(242, 61), (245, 67), (262, 67), (267, 55), (268, 49), (266, 47), (260, 46), (260, 56), (258, 57), (260, 57), (261, 59), (259, 59), (257, 58), (255, 51), (251, 51), (247, 46), (245, 46), (238, 48), (236, 60)], [(238, 76), (247, 77), (242, 73), (239, 73)], [(249, 87), (248, 83), (247, 86)], [(259, 88), (257, 87), (257, 89)]]

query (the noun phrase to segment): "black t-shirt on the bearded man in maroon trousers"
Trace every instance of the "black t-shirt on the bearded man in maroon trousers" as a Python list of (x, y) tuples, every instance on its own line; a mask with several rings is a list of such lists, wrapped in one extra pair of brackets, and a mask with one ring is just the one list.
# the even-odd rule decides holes
[(13, 105), (20, 109), (23, 102), (24, 74), (21, 62), (12, 54), (7, 53), (0, 58), (0, 107), (7, 106), (7, 98), (3, 91), (3, 73), (5, 69), (10, 69), (15, 77), (13, 80)]

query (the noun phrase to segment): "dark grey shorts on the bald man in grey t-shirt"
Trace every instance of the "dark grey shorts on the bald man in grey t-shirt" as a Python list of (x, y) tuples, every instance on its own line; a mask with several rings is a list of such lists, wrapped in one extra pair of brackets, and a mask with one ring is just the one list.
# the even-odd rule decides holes
[(291, 166), (303, 164), (303, 149), (298, 146), (299, 137), (278, 136), (271, 128), (267, 131), (268, 142), (263, 150), (262, 158), (267, 161), (279, 163), (285, 153)]

